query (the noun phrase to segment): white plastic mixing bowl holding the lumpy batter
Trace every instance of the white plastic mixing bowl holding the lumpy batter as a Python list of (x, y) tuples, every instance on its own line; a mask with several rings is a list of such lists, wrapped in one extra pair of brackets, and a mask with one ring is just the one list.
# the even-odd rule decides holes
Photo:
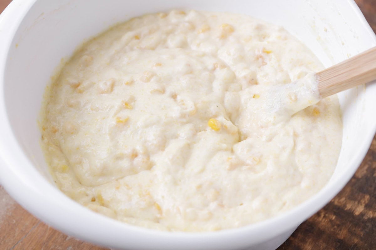
[(329, 183), (280, 216), (238, 229), (159, 232), (96, 214), (60, 192), (39, 146), (44, 88), (61, 58), (112, 24), (172, 8), (246, 13), (282, 25), (325, 66), (376, 45), (352, 0), (14, 0), (0, 15), (0, 182), (26, 210), (54, 228), (113, 249), (275, 249), (349, 181), (376, 130), (376, 84), (339, 94), (343, 145)]

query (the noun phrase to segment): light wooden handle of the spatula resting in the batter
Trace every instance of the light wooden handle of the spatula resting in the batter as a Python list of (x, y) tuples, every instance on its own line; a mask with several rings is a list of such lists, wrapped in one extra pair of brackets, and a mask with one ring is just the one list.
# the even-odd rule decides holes
[(376, 47), (316, 73), (322, 98), (376, 80)]

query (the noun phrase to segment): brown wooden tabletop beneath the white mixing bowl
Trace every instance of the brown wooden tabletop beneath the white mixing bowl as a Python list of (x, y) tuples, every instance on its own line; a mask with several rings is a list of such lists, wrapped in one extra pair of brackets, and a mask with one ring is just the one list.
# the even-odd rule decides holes
[[(0, 12), (10, 0), (0, 0)], [(376, 31), (376, 0), (356, 0)], [(64, 235), (20, 207), (0, 186), (0, 250), (104, 250)], [(376, 137), (344, 189), (279, 247), (376, 249)]]

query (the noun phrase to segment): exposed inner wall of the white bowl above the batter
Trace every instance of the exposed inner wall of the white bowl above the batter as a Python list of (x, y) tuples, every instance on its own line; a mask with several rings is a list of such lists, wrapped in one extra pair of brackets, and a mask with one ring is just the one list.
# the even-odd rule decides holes
[[(16, 1), (20, 5), (30, 2)], [(69, 58), (77, 45), (110, 25), (173, 8), (244, 13), (285, 27), (329, 67), (376, 45), (373, 32), (353, 4), (343, 0), (38, 0), (30, 8), (24, 6), (27, 13), (20, 18), (8, 49), (1, 87), (12, 132), (33, 166), (12, 167), (19, 171), (37, 169), (52, 182), (37, 124), (45, 87), (62, 58)], [(375, 95), (376, 84), (338, 95), (343, 144), (331, 182), (353, 173), (364, 157), (376, 128), (372, 110)]]

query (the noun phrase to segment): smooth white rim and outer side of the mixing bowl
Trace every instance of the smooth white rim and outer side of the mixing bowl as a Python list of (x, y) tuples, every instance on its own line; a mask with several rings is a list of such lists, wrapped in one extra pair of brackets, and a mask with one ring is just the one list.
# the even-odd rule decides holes
[[(65, 196), (33, 168), (33, 163), (24, 155), (8, 120), (3, 89), (8, 52), (21, 21), (36, 1), (38, 0), (14, 0), (0, 15), (0, 42), (3, 44), (0, 48), (0, 138), (3, 138), (0, 141), (0, 183), (27, 211), (65, 234), (102, 246), (127, 246), (135, 249), (150, 246), (158, 249), (218, 246), (222, 249), (247, 247), (250, 241), (258, 244), (284, 233), (286, 229), (296, 228), (326, 205), (350, 180), (370, 147), (376, 124), (371, 124), (370, 130), (364, 133), (365, 140), (354, 153), (356, 157), (347, 163), (349, 168), (338, 175), (338, 178), (297, 207), (241, 228), (217, 232), (165, 232), (128, 225), (94, 213)], [(376, 44), (376, 36), (356, 3), (353, 0), (348, 0), (347, 3)], [(12, 166), (28, 166), (29, 170), (21, 171), (22, 169)], [(41, 205), (44, 208), (42, 210)]]

